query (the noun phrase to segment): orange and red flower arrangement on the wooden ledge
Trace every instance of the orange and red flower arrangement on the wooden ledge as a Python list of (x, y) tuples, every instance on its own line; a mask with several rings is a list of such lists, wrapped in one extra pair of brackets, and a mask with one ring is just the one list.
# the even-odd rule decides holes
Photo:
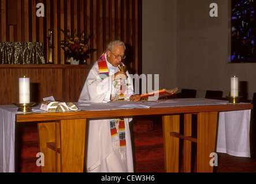
[(88, 56), (89, 53), (97, 51), (97, 49), (91, 49), (90, 45), (88, 44), (92, 32), (87, 38), (84, 38), (84, 33), (77, 36), (74, 36), (75, 33), (73, 33), (70, 36), (69, 31), (65, 32), (62, 29), (61, 31), (66, 36), (66, 40), (61, 41), (61, 48), (64, 50), (66, 57), (73, 57), (75, 60), (83, 61), (90, 58), (90, 56)]

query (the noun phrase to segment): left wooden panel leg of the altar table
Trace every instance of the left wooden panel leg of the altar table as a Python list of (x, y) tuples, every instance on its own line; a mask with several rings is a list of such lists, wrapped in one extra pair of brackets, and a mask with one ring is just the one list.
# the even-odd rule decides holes
[(46, 158), (42, 173), (83, 172), (86, 119), (39, 123), (38, 132)]

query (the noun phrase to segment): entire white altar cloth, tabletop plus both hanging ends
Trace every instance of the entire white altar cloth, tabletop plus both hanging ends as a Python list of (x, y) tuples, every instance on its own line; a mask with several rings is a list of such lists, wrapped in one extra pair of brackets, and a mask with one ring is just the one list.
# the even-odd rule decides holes
[[(154, 102), (113, 101), (100, 105), (91, 102), (79, 102), (74, 104), (79, 107), (79, 110), (115, 110), (227, 105), (228, 101), (191, 98)], [(47, 113), (39, 110), (39, 106), (32, 108), (32, 110), (32, 113)], [(0, 106), (0, 173), (13, 173), (15, 171), (14, 140), (15, 114), (17, 113), (20, 112), (17, 112), (17, 107), (14, 105)], [(233, 156), (250, 157), (250, 113), (251, 110), (219, 113), (216, 152), (227, 153)]]

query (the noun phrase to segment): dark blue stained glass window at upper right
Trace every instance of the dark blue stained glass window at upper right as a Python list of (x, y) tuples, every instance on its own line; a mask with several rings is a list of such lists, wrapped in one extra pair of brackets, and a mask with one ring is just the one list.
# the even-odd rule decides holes
[(231, 63), (255, 63), (255, 0), (232, 0)]

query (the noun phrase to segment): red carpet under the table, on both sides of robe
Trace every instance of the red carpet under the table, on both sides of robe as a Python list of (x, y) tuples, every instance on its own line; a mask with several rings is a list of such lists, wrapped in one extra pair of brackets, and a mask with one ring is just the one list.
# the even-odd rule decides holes
[[(139, 120), (133, 124), (133, 149), (135, 154), (135, 172), (164, 172), (164, 146), (162, 127), (150, 120)], [(38, 132), (36, 125), (23, 127), (21, 140), (21, 173), (38, 173), (36, 166)]]

